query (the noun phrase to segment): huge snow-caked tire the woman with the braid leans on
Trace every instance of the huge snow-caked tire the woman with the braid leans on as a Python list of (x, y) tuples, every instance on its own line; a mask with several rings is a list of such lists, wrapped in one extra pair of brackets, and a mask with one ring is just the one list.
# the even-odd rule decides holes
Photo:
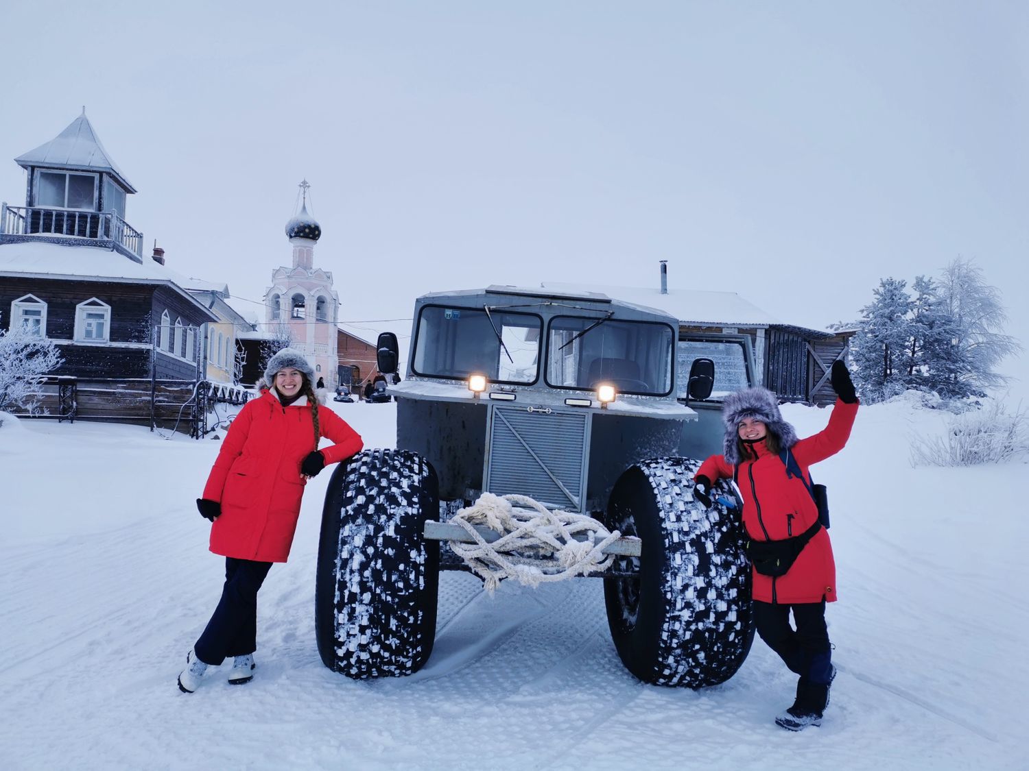
[(428, 660), (436, 631), (436, 473), (414, 452), (365, 450), (329, 480), (315, 586), (325, 666), (348, 677), (399, 676)]

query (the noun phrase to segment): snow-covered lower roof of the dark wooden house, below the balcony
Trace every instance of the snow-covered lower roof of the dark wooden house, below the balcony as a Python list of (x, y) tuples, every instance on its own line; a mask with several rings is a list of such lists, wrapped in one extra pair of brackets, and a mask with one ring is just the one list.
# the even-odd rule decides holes
[(38, 279), (96, 280), (115, 283), (164, 284), (218, 321), (218, 317), (186, 291), (188, 279), (153, 260), (142, 263), (98, 247), (69, 247), (54, 242), (0, 245), (0, 276)]

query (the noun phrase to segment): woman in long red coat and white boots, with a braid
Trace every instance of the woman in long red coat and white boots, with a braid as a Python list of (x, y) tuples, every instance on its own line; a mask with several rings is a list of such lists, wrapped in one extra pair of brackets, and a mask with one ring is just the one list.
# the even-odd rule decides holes
[[(186, 656), (179, 689), (192, 693), (208, 666), (234, 657), (228, 682), (248, 683), (257, 648), (257, 591), (293, 543), (308, 479), (360, 451), (361, 437), (331, 410), (319, 410), (304, 355), (283, 348), (258, 383), (261, 395), (233, 420), (214, 462), (200, 513), (211, 520), (211, 551), (225, 557), (221, 599)], [(322, 437), (333, 444), (319, 450)]]

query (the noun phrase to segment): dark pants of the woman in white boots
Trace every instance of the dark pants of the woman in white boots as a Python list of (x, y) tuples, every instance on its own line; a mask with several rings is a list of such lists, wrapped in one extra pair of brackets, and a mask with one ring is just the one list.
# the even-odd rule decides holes
[(207, 628), (193, 645), (197, 658), (217, 666), (257, 650), (257, 590), (271, 562), (225, 557), (225, 585)]

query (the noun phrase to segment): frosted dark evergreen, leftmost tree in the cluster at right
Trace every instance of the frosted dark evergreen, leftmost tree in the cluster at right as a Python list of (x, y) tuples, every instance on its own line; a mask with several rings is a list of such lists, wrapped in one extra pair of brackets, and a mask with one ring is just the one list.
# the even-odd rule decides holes
[(881, 280), (873, 302), (861, 308), (858, 332), (851, 340), (854, 381), (870, 402), (888, 399), (908, 387), (904, 364), (912, 337), (912, 300), (906, 287), (904, 281)]

